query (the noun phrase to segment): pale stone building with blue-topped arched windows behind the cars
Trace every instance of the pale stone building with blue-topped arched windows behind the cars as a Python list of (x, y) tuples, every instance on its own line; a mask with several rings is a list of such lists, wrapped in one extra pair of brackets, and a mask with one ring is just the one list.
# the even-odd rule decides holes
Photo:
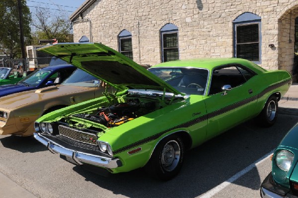
[(297, 0), (86, 0), (70, 19), (74, 42), (101, 42), (139, 64), (239, 57), (297, 80)]

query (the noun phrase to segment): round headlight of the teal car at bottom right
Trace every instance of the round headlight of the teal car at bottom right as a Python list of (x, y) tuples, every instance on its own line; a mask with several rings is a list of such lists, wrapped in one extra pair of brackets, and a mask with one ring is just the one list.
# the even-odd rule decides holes
[(282, 150), (278, 152), (275, 157), (276, 165), (286, 172), (290, 170), (293, 160), (294, 154), (287, 150)]

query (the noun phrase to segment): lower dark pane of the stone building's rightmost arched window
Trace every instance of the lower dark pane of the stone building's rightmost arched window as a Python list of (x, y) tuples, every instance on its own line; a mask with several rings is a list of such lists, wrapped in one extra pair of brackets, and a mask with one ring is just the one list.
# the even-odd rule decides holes
[(259, 61), (259, 43), (237, 44), (237, 58)]

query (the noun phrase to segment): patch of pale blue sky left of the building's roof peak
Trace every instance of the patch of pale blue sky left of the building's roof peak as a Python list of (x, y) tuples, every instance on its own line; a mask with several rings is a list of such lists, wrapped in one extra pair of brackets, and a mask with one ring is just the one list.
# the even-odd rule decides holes
[(63, 11), (71, 16), (85, 0), (26, 0), (31, 12), (35, 7), (48, 8), (51, 11)]

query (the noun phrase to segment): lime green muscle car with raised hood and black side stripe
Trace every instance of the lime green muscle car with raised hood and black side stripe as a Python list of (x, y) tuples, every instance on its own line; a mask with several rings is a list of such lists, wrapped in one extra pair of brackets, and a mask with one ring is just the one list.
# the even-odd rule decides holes
[(188, 149), (257, 117), (272, 126), (292, 78), (236, 58), (161, 63), (148, 70), (99, 43), (40, 49), (116, 87), (42, 116), (34, 137), (53, 153), (104, 174), (144, 167), (175, 177)]

